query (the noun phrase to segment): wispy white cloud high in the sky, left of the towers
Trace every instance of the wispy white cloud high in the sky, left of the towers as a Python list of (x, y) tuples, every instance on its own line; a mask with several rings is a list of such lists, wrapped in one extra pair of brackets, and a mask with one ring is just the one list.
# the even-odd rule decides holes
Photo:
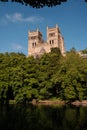
[(43, 21), (42, 17), (39, 16), (30, 16), (30, 17), (23, 17), (21, 13), (14, 13), (14, 14), (6, 14), (5, 18), (10, 22), (41, 22)]

